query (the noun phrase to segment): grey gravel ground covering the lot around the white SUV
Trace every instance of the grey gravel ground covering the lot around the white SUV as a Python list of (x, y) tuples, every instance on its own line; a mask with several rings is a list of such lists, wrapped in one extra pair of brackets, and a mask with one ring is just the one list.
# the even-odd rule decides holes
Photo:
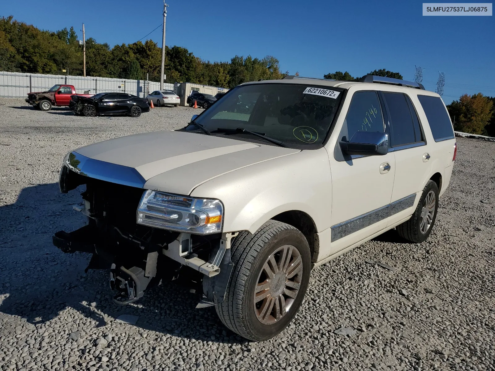
[[(175, 129), (197, 112), (84, 118), (0, 98), (1, 370), (495, 370), (495, 143), (475, 139), (457, 139), (425, 243), (390, 231), (315, 269), (295, 320), (274, 339), (236, 336), (213, 308), (195, 309), (200, 293), (187, 283), (114, 306), (106, 272), (84, 274), (88, 255), (51, 244), (53, 232), (83, 224), (77, 190), (58, 193), (62, 156)], [(139, 320), (117, 323), (122, 314)]]

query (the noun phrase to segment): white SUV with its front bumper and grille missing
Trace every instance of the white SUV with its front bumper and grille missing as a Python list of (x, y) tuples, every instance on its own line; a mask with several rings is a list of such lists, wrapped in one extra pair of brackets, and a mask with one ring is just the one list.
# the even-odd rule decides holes
[(180, 276), (202, 279), (252, 340), (282, 331), (312, 268), (392, 228), (422, 242), (452, 174), (441, 97), (366, 76), (247, 83), (185, 128), (105, 140), (66, 155), (60, 189), (86, 185), (83, 228), (53, 236), (109, 269), (114, 302)]

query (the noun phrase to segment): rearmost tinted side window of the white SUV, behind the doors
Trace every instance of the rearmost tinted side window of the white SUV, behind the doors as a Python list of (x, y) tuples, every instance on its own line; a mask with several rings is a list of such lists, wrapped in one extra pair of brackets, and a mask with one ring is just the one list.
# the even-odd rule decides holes
[(442, 99), (438, 96), (418, 95), (432, 130), (433, 139), (442, 141), (454, 138), (454, 131)]

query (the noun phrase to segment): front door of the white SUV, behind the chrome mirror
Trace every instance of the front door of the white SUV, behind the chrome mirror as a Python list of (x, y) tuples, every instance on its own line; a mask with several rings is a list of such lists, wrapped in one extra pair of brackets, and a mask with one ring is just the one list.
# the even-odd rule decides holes
[[(347, 98), (348, 99), (348, 98)], [(339, 140), (359, 131), (388, 133), (375, 91), (352, 95)], [(387, 225), (396, 172), (394, 152), (348, 156), (339, 143), (330, 154), (332, 172), (331, 253), (352, 245)]]

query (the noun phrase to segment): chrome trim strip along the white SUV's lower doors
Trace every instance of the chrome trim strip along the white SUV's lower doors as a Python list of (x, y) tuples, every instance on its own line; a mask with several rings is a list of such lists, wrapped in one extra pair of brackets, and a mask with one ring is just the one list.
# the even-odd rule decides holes
[(378, 209), (372, 210), (358, 217), (349, 219), (345, 222), (336, 224), (331, 227), (332, 229), (332, 242), (342, 237), (345, 237), (351, 233), (362, 230), (363, 228), (369, 227), (372, 224), (378, 223), (398, 212), (405, 210), (414, 205), (414, 200), (416, 199), (416, 193), (409, 196), (401, 198), (400, 200), (389, 203), (386, 206), (380, 207)]

